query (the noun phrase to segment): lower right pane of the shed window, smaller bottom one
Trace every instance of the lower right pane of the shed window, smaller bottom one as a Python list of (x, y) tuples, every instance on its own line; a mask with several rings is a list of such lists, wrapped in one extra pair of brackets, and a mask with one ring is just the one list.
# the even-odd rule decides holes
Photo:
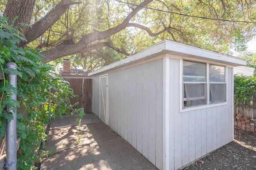
[(226, 102), (226, 84), (210, 84), (210, 103)]

